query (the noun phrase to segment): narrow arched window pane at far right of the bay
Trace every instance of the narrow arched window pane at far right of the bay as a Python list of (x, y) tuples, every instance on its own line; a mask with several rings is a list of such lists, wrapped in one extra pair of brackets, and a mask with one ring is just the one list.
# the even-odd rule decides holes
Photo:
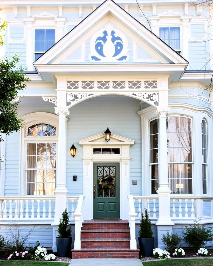
[(202, 129), (202, 183), (203, 194), (206, 194), (206, 173), (207, 173), (207, 126), (206, 121), (203, 119), (201, 123)]

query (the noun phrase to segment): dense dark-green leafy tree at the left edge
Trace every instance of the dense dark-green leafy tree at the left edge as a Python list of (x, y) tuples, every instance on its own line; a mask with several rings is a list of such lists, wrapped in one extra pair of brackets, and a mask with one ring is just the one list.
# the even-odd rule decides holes
[(18, 91), (26, 86), (24, 82), (30, 79), (23, 73), (21, 66), (17, 67), (18, 61), (17, 55), (10, 60), (5, 57), (0, 61), (0, 141), (3, 133), (9, 135), (13, 131), (19, 131), (22, 126), (16, 99)]

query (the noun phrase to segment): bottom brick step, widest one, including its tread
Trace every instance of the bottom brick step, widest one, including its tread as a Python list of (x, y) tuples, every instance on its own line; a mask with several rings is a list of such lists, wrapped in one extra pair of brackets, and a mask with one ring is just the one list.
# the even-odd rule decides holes
[(80, 250), (72, 249), (72, 259), (88, 258), (121, 258), (137, 259), (139, 249), (129, 248), (82, 248)]

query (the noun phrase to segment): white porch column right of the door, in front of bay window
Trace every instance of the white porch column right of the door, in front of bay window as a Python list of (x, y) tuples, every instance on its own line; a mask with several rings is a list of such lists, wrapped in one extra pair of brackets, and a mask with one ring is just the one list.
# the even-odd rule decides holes
[(159, 219), (156, 225), (173, 225), (170, 218), (170, 193), (167, 163), (167, 125), (166, 116), (169, 108), (158, 108), (159, 115)]

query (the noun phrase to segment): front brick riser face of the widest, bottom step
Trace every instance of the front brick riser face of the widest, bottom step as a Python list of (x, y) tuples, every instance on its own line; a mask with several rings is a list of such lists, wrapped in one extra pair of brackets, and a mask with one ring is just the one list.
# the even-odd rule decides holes
[(88, 258), (116, 258), (116, 259), (138, 259), (139, 253), (136, 252), (123, 252), (117, 251), (109, 252), (109, 251), (87, 251), (87, 252), (79, 252), (72, 251), (72, 259), (88, 259)]

